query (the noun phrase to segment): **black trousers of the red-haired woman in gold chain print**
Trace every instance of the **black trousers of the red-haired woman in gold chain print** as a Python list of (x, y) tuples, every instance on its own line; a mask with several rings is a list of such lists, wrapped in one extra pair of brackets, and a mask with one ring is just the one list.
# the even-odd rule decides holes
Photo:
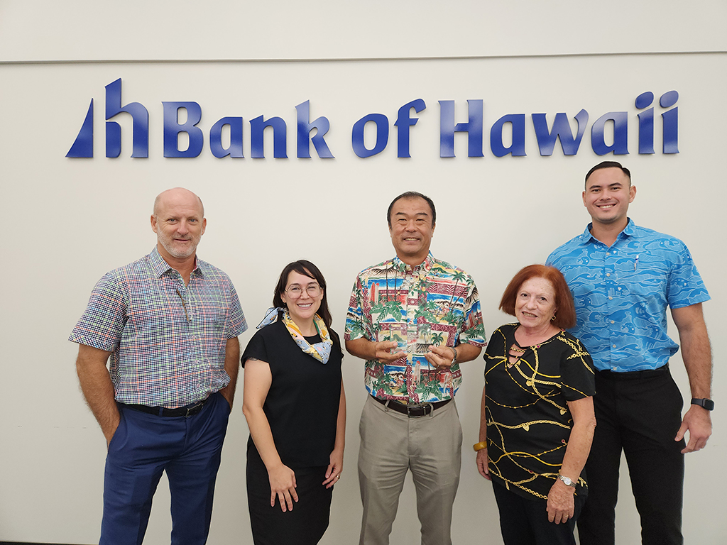
[(547, 520), (547, 501), (526, 498), (492, 482), (505, 545), (575, 545), (573, 530), (586, 499), (574, 496), (574, 513), (568, 522)]

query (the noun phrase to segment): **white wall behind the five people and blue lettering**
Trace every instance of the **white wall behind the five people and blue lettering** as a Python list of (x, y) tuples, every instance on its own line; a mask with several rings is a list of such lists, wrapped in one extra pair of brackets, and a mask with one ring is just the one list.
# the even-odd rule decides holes
[[(727, 296), (726, 259), (718, 227), (727, 201), (720, 166), (727, 9), (718, 1), (683, 9), (674, 1), (658, 8), (616, 1), (607, 13), (601, 4), (575, 1), (548, 9), (536, 1), (397, 8), (371, 2), (365, 9), (291, 1), (275, 7), (0, 3), (0, 187), (7, 233), (0, 243), (0, 541), (97, 541), (103, 435), (79, 393), (77, 348), (66, 339), (100, 275), (152, 248), (153, 198), (176, 185), (203, 198), (208, 228), (199, 255), (230, 274), (253, 328), (281, 268), (305, 258), (329, 281), (340, 332), (356, 273), (393, 255), (387, 204), (405, 190), (426, 193), (438, 208), (433, 252), (474, 276), (489, 333), (507, 320), (497, 302), (512, 275), (545, 261), (584, 229), (582, 179), (601, 161), (590, 150), (590, 126), (603, 113), (624, 110), (631, 153), (615, 159), (632, 170), (638, 187), (630, 216), (690, 247), (713, 299), (704, 311), (714, 360), (723, 361), (720, 332), (727, 324), (718, 308)], [(123, 127), (121, 157), (105, 158), (104, 86), (119, 77), (122, 102), (141, 102), (149, 110), (148, 159), (129, 157), (126, 116), (115, 119)], [(633, 101), (644, 91), (658, 100), (672, 89), (680, 95), (680, 153), (660, 153), (657, 106), (657, 153), (640, 156)], [(95, 158), (65, 158), (92, 97)], [(412, 157), (397, 158), (396, 111), (417, 98), (427, 109), (411, 129)], [(485, 105), (485, 156), (467, 158), (467, 137), (460, 134), (457, 158), (439, 158), (437, 101), (455, 100), (457, 121), (467, 121), (466, 101), (472, 99)], [(161, 102), (172, 100), (201, 105), (205, 135), (222, 116), (243, 116), (246, 158), (214, 158), (207, 143), (198, 158), (163, 158)], [(331, 121), (326, 141), (335, 159), (317, 158), (313, 146), (313, 158), (295, 157), (294, 106), (304, 100), (310, 100), (311, 118)], [(581, 108), (590, 122), (577, 156), (563, 156), (560, 145), (552, 157), (539, 156), (530, 114), (549, 113), (552, 121), (557, 112), (572, 117)], [(385, 152), (361, 159), (351, 149), (350, 129), (368, 113), (384, 113), (392, 126)], [(526, 157), (489, 152), (489, 127), (507, 113), (526, 113)], [(288, 124), (288, 159), (273, 159), (270, 135), (266, 158), (250, 158), (247, 122), (260, 115), (281, 116)], [(325, 245), (316, 243), (321, 232)], [(688, 398), (678, 356), (672, 369)], [(465, 431), (453, 533), (459, 544), (499, 542), (497, 507), (469, 447), (477, 440), (482, 370), (481, 360), (467, 364), (457, 395)], [(358, 538), (362, 374), (363, 362), (347, 356), (345, 473), (324, 544)], [(704, 451), (687, 456), (688, 543), (718, 544), (727, 533), (727, 522), (708, 507), (727, 485), (720, 472), (726, 380), (717, 365), (714, 435)], [(244, 492), (248, 432), (239, 401), (222, 454), (211, 544), (252, 541)], [(168, 539), (164, 487), (156, 495), (148, 543)], [(617, 525), (619, 544), (638, 543), (625, 476)], [(418, 528), (408, 485), (392, 542), (419, 543)]]

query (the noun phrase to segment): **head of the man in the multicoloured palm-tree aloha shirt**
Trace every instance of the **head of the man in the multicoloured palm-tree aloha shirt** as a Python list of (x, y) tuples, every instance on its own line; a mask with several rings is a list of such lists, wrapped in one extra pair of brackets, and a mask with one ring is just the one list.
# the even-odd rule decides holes
[(406, 265), (424, 262), (435, 227), (427, 201), (421, 197), (400, 198), (393, 204), (389, 220), (389, 234), (398, 258)]

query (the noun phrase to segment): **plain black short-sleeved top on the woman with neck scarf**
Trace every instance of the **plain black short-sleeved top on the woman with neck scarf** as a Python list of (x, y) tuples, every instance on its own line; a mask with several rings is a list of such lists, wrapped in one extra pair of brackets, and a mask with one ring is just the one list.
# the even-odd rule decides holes
[[(337, 334), (331, 356), (321, 363), (306, 354), (278, 321), (257, 331), (242, 355), (268, 363), (272, 382), (262, 411), (270, 424), (278, 455), (292, 468), (321, 467), (330, 463), (336, 443), (336, 424), (341, 396), (343, 353)], [(308, 339), (308, 338), (306, 338)], [(309, 339), (308, 342), (320, 342)], [(248, 452), (256, 452), (252, 437)]]

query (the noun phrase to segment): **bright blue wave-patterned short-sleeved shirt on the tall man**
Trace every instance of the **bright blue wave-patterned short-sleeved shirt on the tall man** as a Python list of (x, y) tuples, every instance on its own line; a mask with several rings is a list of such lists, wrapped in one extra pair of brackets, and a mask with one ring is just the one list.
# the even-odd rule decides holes
[(710, 299), (686, 245), (628, 225), (611, 246), (586, 230), (547, 259), (573, 293), (577, 325), (596, 368), (644, 371), (667, 363), (679, 345), (667, 335), (667, 307)]

